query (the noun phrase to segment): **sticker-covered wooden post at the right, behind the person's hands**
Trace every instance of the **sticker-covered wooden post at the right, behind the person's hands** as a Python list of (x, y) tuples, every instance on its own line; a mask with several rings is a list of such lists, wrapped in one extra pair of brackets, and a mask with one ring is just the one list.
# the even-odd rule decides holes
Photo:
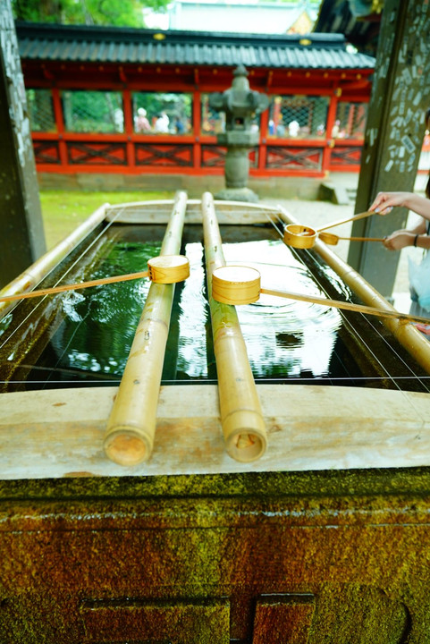
[[(385, 0), (358, 181), (356, 212), (380, 191), (413, 191), (429, 106), (430, 4)], [(406, 208), (355, 223), (353, 236), (384, 237), (406, 222)], [(399, 253), (351, 244), (350, 266), (385, 297), (392, 294)]]

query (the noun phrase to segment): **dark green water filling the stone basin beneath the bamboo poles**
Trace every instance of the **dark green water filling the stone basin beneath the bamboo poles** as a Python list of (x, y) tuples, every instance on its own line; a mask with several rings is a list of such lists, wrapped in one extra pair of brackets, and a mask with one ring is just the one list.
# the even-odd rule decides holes
[[(190, 260), (190, 278), (175, 287), (164, 384), (216, 382), (201, 227), (188, 228), (181, 252)], [(111, 228), (81, 260), (81, 278), (145, 270), (148, 259), (159, 254), (164, 230)], [(224, 226), (221, 232), (226, 261), (257, 268), (262, 287), (350, 297), (329, 267), (312, 252), (286, 247), (273, 228)], [(60, 267), (57, 274), (67, 269)], [(140, 279), (21, 302), (0, 323), (3, 390), (118, 384), (149, 285)], [(394, 375), (404, 388), (420, 387), (403, 350), (392, 337), (387, 340), (376, 319), (267, 295), (237, 310), (257, 381), (392, 387)]]

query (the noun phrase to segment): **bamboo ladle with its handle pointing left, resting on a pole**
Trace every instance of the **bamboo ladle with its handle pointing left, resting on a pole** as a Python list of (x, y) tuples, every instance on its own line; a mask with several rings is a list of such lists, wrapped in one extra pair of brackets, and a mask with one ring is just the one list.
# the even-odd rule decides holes
[(189, 276), (190, 262), (188, 258), (183, 255), (160, 255), (159, 257), (148, 259), (148, 271), (139, 271), (138, 273), (128, 273), (126, 275), (113, 275), (112, 277), (102, 277), (97, 280), (90, 280), (89, 282), (62, 284), (51, 288), (39, 289), (38, 291), (4, 295), (0, 297), (0, 302), (25, 300), (57, 292), (77, 291), (78, 289), (89, 288), (90, 286), (127, 282), (129, 280), (141, 279), (142, 277), (149, 277), (151, 282), (155, 282), (156, 284), (176, 284), (187, 279)]

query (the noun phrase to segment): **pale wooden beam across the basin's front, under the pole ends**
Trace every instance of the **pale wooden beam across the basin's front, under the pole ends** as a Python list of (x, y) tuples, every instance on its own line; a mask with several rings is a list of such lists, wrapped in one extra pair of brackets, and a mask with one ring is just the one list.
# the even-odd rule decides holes
[(267, 451), (240, 463), (225, 451), (217, 386), (180, 385), (160, 389), (151, 459), (122, 467), (103, 451), (116, 393), (117, 387), (80, 387), (1, 394), (2, 479), (430, 465), (428, 394), (257, 385)]

